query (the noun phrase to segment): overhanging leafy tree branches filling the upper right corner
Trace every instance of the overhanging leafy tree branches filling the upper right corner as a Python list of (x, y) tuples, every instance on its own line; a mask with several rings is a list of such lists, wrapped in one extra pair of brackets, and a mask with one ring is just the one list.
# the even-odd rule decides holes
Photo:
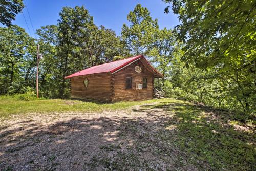
[[(173, 3), (181, 24), (178, 39), (186, 42), (182, 60), (197, 67), (239, 68), (255, 61), (255, 1), (185, 1)], [(169, 6), (165, 12), (169, 11)]]

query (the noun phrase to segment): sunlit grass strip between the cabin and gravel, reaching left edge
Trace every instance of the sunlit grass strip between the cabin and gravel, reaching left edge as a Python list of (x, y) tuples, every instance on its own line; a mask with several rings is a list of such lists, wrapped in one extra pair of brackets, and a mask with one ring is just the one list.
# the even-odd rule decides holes
[(98, 112), (117, 110), (153, 102), (171, 102), (172, 99), (153, 99), (146, 101), (99, 103), (70, 99), (33, 99), (29, 101), (19, 98), (0, 96), (0, 117), (6, 118), (13, 114), (47, 113), (47, 112)]

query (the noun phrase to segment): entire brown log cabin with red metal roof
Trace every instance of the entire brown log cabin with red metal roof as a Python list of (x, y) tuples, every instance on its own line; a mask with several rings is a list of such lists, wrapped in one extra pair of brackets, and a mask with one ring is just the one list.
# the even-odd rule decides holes
[(154, 79), (163, 74), (144, 55), (117, 60), (71, 74), (71, 97), (108, 102), (148, 100), (163, 97)]

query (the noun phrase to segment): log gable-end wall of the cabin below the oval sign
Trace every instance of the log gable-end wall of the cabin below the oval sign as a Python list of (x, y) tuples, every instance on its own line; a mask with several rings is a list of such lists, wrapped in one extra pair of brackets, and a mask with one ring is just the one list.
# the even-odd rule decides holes
[[(137, 73), (135, 67), (140, 66), (142, 71)], [(121, 69), (114, 75), (114, 96), (112, 101), (147, 100), (153, 98), (153, 74), (138, 60)], [(132, 76), (132, 89), (126, 89), (126, 77)], [(136, 84), (143, 84), (143, 77), (147, 77), (147, 88), (137, 89)]]

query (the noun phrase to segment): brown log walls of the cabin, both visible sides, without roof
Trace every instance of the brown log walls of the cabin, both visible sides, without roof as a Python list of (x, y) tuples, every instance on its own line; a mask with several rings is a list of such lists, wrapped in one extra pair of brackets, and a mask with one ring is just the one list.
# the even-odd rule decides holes
[[(135, 71), (136, 66), (141, 67), (141, 73)], [(147, 67), (140, 59), (113, 74), (105, 72), (72, 77), (71, 97), (112, 102), (152, 99), (154, 76)], [(126, 89), (126, 77), (132, 77), (132, 89)], [(147, 87), (136, 90), (136, 84), (143, 84), (144, 77), (147, 78)], [(85, 78), (89, 80), (87, 88), (83, 83)]]

